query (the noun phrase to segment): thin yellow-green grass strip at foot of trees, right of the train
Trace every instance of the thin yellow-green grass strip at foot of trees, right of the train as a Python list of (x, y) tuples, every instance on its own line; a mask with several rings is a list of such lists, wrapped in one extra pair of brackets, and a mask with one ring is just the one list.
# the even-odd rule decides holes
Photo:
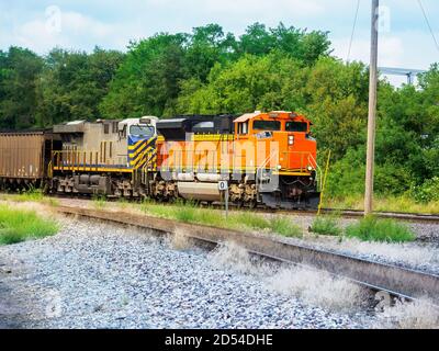
[[(362, 195), (350, 195), (325, 200), (324, 207), (338, 210), (364, 210)], [(376, 196), (373, 204), (376, 212), (423, 213), (439, 214), (439, 202), (417, 203), (408, 195), (401, 196)]]

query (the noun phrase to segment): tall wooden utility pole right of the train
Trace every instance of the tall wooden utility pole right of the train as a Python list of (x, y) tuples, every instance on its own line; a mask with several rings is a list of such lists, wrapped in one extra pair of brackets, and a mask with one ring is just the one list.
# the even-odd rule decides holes
[(365, 166), (364, 215), (373, 212), (373, 168), (375, 161), (375, 118), (378, 87), (378, 31), (380, 0), (372, 0), (371, 61), (369, 84), (368, 156)]

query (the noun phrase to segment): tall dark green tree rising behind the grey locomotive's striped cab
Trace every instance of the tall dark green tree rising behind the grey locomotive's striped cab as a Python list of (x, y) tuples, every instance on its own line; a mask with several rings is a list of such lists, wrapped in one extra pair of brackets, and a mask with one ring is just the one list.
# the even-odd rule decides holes
[(172, 113), (183, 69), (184, 34), (157, 34), (132, 43), (126, 59), (110, 86), (100, 111), (103, 115), (138, 117)]

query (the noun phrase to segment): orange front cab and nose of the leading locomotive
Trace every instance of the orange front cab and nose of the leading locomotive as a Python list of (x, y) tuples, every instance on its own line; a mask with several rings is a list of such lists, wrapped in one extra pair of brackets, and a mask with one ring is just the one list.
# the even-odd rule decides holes
[(252, 140), (257, 151), (259, 201), (272, 208), (316, 207), (317, 143), (311, 121), (296, 113), (256, 112), (235, 121), (237, 140)]

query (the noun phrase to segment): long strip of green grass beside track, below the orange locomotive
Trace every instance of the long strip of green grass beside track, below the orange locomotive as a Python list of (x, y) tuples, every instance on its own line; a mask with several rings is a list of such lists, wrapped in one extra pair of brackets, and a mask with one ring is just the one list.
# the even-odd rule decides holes
[(142, 203), (140, 210), (144, 213), (154, 216), (190, 224), (207, 225), (227, 229), (271, 231), (288, 237), (302, 235), (301, 228), (295, 226), (288, 217), (267, 219), (262, 215), (257, 215), (250, 212), (232, 212), (226, 219), (222, 211), (200, 208), (191, 202), (177, 202), (171, 205), (164, 205), (145, 201)]

